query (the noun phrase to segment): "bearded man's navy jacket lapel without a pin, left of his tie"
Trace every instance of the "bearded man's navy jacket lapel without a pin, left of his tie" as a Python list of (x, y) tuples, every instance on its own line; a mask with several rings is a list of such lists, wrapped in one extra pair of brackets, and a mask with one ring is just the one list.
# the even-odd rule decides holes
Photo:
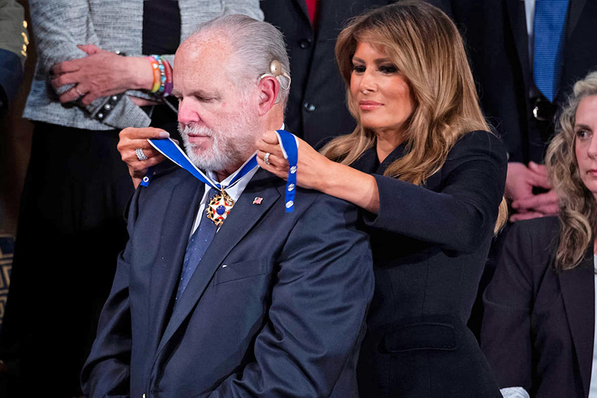
[[(150, 280), (149, 311), (155, 322), (150, 322), (153, 333), (159, 342), (165, 326), (170, 319), (170, 308), (173, 302), (184, 252), (186, 251), (189, 233), (195, 220), (197, 208), (203, 197), (205, 184), (192, 175), (188, 175), (172, 190), (166, 217), (162, 225), (162, 236), (158, 254)], [(170, 237), (171, 239), (168, 239)]]

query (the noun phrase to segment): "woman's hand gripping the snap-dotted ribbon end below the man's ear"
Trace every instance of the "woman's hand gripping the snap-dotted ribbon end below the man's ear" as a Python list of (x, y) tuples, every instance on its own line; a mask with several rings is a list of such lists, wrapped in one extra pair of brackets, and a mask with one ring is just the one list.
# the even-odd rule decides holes
[[(278, 135), (275, 131), (266, 131), (261, 138), (257, 138), (257, 163), (261, 168), (286, 180), (288, 178), (288, 161), (282, 155), (282, 149), (278, 143)], [(265, 163), (266, 153), (270, 153)], [(321, 155), (312, 146), (298, 138), (298, 163), (297, 163), (297, 184), (307, 189), (324, 191), (326, 174), (330, 172), (331, 166), (336, 163)]]

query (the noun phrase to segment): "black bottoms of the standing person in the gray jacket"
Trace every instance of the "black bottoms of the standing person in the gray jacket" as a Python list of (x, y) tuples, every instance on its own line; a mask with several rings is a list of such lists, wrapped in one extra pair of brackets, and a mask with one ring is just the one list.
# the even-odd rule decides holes
[[(170, 110), (152, 118), (176, 131)], [(79, 374), (128, 238), (134, 188), (117, 143), (117, 130), (35, 125), (0, 335), (0, 358), (14, 368), (11, 396), (81, 394)]]

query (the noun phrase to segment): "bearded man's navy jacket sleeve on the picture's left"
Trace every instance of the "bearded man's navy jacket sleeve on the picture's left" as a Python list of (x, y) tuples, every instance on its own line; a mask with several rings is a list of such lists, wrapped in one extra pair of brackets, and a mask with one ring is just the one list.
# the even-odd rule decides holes
[[(128, 233), (134, 230), (139, 194), (137, 189), (128, 211)], [(85, 397), (128, 397), (131, 363), (131, 308), (128, 294), (132, 245), (118, 256), (112, 290), (101, 310), (96, 340), (81, 372)]]

